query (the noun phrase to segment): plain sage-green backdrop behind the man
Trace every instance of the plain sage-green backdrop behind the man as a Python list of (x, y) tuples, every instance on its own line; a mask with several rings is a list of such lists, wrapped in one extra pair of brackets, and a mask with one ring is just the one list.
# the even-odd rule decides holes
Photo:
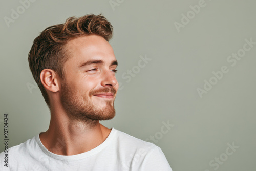
[[(114, 27), (110, 44), (122, 83), (116, 117), (101, 123), (154, 138), (173, 170), (255, 170), (256, 1), (22, 2), (0, 2), (0, 137), (8, 113), (9, 147), (49, 126), (28, 66), (33, 40), (68, 17), (101, 13)], [(142, 57), (151, 60), (139, 67)], [(173, 125), (167, 133), (165, 123)]]

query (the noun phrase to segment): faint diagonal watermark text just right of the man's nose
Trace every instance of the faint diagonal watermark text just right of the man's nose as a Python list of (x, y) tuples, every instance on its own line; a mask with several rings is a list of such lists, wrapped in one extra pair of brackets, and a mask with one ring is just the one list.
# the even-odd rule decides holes
[[(126, 70), (126, 72), (122, 73), (122, 79), (125, 80), (126, 83), (129, 83), (132, 81), (132, 78), (136, 77), (136, 75), (141, 71), (142, 68), (144, 68), (149, 61), (152, 59), (147, 58), (147, 55), (144, 56), (140, 55), (140, 60), (138, 61), (138, 64), (133, 66), (132, 69)], [(124, 88), (124, 85), (122, 82), (119, 83), (119, 90), (122, 90)]]

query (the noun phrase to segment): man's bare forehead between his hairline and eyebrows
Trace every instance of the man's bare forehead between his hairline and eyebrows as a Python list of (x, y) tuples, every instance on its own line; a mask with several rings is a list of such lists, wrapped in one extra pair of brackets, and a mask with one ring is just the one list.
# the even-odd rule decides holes
[(75, 38), (67, 43), (66, 48), (70, 54), (68, 61), (77, 65), (90, 59), (106, 62), (116, 60), (109, 42), (97, 35)]

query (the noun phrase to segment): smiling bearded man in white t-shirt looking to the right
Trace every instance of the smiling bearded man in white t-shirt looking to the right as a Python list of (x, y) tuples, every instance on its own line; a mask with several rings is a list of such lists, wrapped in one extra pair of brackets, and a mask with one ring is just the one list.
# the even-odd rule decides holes
[[(156, 145), (109, 129), (118, 62), (102, 15), (71, 17), (34, 40), (28, 60), (51, 112), (49, 129), (8, 150), (10, 170), (172, 170)], [(1, 153), (1, 170), (5, 153)]]

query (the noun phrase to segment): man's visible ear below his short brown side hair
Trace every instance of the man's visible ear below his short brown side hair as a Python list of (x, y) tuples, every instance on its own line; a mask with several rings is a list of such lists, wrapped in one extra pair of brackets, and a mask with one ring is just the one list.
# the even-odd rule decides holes
[(57, 73), (51, 69), (44, 69), (41, 71), (40, 79), (45, 89), (51, 92), (59, 91), (59, 77)]

